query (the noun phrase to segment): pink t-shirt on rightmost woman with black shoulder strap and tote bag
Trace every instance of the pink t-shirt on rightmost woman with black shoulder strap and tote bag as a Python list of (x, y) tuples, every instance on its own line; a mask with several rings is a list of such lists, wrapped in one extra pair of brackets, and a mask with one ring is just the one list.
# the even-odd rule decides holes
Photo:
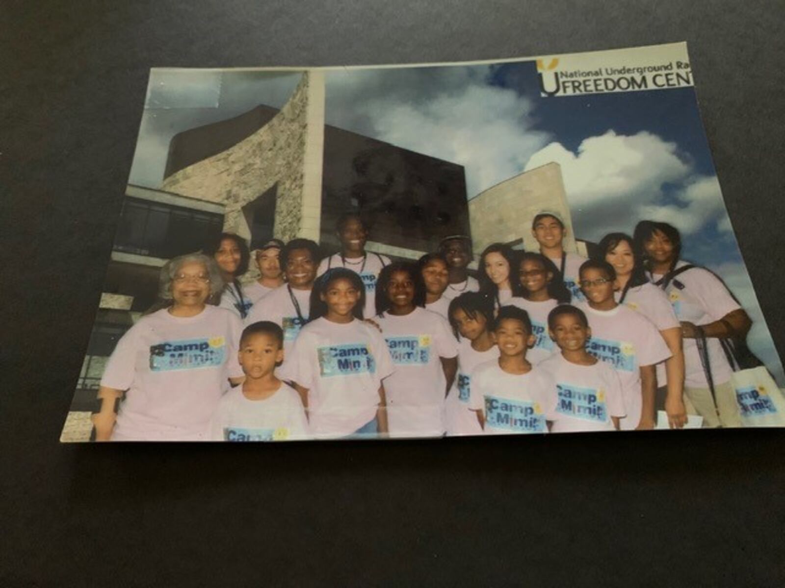
[[(680, 261), (676, 267), (685, 266), (686, 262)], [(661, 275), (652, 276), (652, 281), (662, 278)], [(681, 288), (679, 287), (681, 285)], [(739, 303), (733, 299), (728, 289), (717, 276), (702, 267), (693, 267), (678, 274), (670, 281), (666, 295), (680, 321), (688, 321), (693, 325), (708, 325), (719, 321), (726, 314), (739, 310)], [(685, 386), (692, 388), (708, 388), (709, 383), (703, 364), (700, 361), (698, 343), (696, 339), (684, 339), (685, 350)], [(709, 364), (714, 384), (728, 382), (732, 376), (732, 369), (725, 358), (719, 339), (707, 338)]]

